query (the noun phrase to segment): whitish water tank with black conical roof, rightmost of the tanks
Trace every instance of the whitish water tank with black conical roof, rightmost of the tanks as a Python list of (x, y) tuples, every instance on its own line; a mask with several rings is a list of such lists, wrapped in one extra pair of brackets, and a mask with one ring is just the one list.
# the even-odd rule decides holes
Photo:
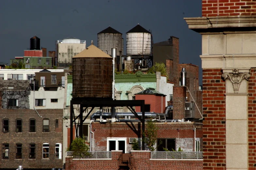
[(150, 55), (151, 33), (139, 24), (126, 33), (126, 55)]

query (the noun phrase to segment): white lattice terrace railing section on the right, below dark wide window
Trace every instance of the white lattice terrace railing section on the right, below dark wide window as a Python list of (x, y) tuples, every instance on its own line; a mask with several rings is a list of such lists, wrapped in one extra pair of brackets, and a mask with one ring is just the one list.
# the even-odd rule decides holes
[(203, 152), (151, 152), (151, 159), (203, 159)]

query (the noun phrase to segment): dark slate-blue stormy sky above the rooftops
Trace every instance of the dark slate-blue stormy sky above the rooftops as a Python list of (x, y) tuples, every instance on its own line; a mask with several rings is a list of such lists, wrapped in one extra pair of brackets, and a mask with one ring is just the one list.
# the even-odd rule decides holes
[[(97, 45), (97, 33), (108, 26), (123, 34), (140, 24), (152, 30), (154, 43), (180, 39), (180, 63), (200, 67), (201, 35), (188, 29), (184, 17), (201, 16), (201, 0), (3, 0), (0, 1), (0, 62), (23, 56), (35, 34), (40, 46), (55, 51), (55, 40), (75, 37)], [(124, 45), (125, 53), (125, 45)]]

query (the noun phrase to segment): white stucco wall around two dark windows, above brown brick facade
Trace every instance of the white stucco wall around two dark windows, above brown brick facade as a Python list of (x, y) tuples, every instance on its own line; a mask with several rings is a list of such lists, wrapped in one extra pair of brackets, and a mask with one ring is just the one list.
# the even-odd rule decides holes
[[(46, 99), (46, 106), (35, 106), (36, 109), (63, 109), (64, 104), (64, 88), (58, 87), (57, 91), (45, 91), (43, 87), (40, 87), (38, 91), (35, 91), (35, 99)], [(58, 99), (58, 102), (51, 102), (51, 99)], [(34, 109), (34, 91), (31, 91), (29, 95), (30, 109)]]

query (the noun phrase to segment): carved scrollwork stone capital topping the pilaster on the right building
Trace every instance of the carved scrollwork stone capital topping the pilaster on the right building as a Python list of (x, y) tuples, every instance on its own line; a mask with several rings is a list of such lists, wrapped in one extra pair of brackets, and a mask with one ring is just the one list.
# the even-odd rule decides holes
[(247, 93), (248, 72), (248, 69), (232, 69), (232, 72), (224, 69), (222, 77), (226, 81), (226, 93)]

